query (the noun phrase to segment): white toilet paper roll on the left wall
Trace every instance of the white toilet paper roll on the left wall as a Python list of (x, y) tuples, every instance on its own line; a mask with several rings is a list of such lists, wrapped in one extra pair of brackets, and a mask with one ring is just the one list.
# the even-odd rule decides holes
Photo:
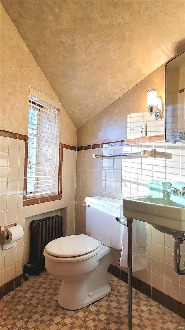
[(3, 250), (17, 245), (16, 241), (20, 240), (24, 235), (23, 228), (20, 225), (10, 227), (6, 231), (8, 236), (4, 240)]

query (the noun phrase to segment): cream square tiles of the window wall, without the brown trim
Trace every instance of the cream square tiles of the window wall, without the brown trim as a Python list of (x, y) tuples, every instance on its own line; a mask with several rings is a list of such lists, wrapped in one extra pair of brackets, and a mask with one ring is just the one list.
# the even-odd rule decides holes
[(0, 246), (0, 285), (20, 275), (29, 261), (28, 225), (35, 217), (59, 210), (64, 215), (64, 234), (74, 233), (76, 151), (63, 150), (62, 200), (23, 207), (24, 148), (22, 140), (0, 137), (0, 226), (18, 221), (24, 228), (24, 239), (17, 241), (16, 247), (3, 250)]

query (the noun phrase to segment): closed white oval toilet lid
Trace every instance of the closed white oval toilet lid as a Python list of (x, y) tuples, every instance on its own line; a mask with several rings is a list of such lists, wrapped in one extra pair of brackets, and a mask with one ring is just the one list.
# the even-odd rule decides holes
[(47, 253), (57, 257), (75, 257), (87, 254), (101, 245), (101, 242), (87, 235), (72, 235), (57, 238), (45, 246)]

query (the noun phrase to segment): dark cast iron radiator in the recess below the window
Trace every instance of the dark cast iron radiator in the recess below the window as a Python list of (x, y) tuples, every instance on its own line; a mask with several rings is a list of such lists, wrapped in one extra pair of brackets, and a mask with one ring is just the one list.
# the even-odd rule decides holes
[(43, 250), (47, 243), (59, 237), (63, 237), (63, 216), (52, 215), (31, 222), (30, 273), (40, 275), (45, 269)]

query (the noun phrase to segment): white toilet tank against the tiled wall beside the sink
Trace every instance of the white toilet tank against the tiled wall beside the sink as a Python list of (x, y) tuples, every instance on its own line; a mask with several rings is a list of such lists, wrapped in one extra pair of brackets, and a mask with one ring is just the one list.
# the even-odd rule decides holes
[(123, 216), (122, 201), (106, 197), (86, 197), (85, 202), (89, 205), (86, 206), (87, 235), (110, 248), (121, 249), (122, 231), (126, 227), (115, 218)]

